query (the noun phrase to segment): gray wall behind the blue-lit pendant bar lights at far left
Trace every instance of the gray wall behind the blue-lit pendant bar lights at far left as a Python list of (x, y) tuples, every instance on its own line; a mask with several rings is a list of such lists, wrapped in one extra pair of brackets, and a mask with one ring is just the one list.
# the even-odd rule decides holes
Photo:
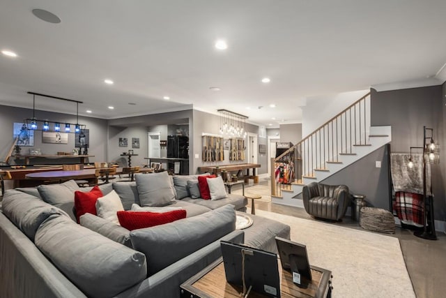
[[(76, 115), (61, 114), (55, 112), (46, 112), (36, 110), (37, 119), (48, 119), (49, 121), (60, 121), (61, 125), (65, 122), (76, 123)], [(24, 109), (21, 107), (10, 107), (0, 105), (0, 159), (6, 158), (6, 154), (13, 144), (13, 124), (14, 122), (23, 122), (26, 118), (33, 116), (32, 109)], [(79, 124), (86, 125), (89, 129), (89, 154), (94, 155), (90, 161), (108, 161), (107, 159), (107, 120), (97, 119), (93, 117), (79, 116)], [(72, 128), (74, 129), (74, 128)], [(34, 131), (34, 146), (22, 147), (22, 154), (28, 154), (29, 148), (40, 149), (42, 154), (57, 154), (61, 152), (72, 152), (75, 148), (75, 133), (68, 133), (68, 144), (46, 144), (42, 142), (42, 131)], [(63, 163), (59, 160), (50, 160), (40, 158), (38, 163)], [(68, 161), (67, 161), (68, 162)], [(72, 163), (72, 160), (69, 161)], [(14, 163), (11, 158), (10, 163)], [(32, 162), (31, 162), (32, 163)]]

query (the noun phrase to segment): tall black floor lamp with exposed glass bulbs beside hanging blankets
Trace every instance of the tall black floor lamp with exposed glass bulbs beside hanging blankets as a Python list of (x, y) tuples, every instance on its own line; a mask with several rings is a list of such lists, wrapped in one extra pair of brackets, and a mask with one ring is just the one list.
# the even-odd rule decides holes
[[(426, 131), (430, 131), (431, 136), (426, 137)], [(415, 236), (423, 238), (423, 239), (429, 239), (429, 240), (436, 240), (437, 235), (435, 232), (435, 221), (433, 217), (433, 196), (432, 196), (432, 189), (430, 190), (431, 195), (426, 195), (426, 163), (439, 163), (440, 161), (440, 149), (438, 147), (438, 144), (435, 144), (433, 142), (433, 128), (426, 128), (426, 126), (423, 126), (423, 147), (410, 147), (410, 158), (408, 167), (413, 167), (413, 161), (412, 161), (412, 149), (423, 149), (423, 230), (415, 231), (413, 234)], [(426, 142), (426, 140), (430, 140), (429, 142)], [(430, 176), (431, 182), (432, 177)], [(432, 183), (431, 183), (432, 188)], [(429, 201), (429, 202), (428, 202)], [(426, 207), (429, 205), (429, 214), (426, 212)]]

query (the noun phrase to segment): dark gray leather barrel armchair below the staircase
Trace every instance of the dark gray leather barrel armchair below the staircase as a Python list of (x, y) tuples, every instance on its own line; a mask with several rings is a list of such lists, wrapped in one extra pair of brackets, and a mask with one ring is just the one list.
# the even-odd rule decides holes
[(318, 217), (339, 221), (350, 204), (350, 194), (345, 185), (327, 185), (312, 182), (302, 189), (305, 211)]

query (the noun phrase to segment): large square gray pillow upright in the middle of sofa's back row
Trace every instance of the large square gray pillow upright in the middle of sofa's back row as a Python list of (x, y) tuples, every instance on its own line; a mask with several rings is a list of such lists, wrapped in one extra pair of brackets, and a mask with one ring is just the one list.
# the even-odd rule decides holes
[(137, 175), (141, 206), (162, 207), (175, 202), (175, 192), (167, 172)]

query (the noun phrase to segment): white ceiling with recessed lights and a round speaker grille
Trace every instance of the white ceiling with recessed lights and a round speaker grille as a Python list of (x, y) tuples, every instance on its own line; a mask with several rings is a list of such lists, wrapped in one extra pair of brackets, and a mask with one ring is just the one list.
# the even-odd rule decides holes
[[(105, 119), (193, 105), (294, 123), (314, 96), (443, 83), (445, 32), (445, 0), (0, 0), (0, 50), (18, 54), (0, 54), (0, 105), (32, 107), (33, 91)], [(36, 110), (76, 107), (36, 97)]]

